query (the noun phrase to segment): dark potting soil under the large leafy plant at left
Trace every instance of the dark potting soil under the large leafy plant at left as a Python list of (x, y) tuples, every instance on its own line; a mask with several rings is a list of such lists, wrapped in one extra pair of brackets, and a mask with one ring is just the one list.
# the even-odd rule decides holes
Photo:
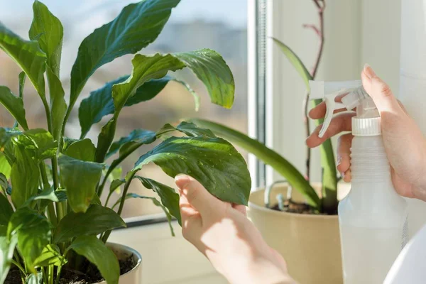
[[(133, 255), (124, 260), (119, 260), (120, 264), (120, 275), (131, 271), (136, 266), (136, 261), (133, 258)], [(96, 266), (89, 261), (84, 262), (84, 267), (86, 271), (84, 273), (80, 271), (73, 271), (70, 268), (64, 266), (62, 268), (61, 278), (59, 280), (60, 284), (89, 284), (89, 283), (98, 283), (104, 281), (101, 273), (98, 271)], [(21, 274), (18, 269), (12, 268), (9, 271), (9, 274), (6, 277), (6, 282), (4, 284), (21, 284)]]

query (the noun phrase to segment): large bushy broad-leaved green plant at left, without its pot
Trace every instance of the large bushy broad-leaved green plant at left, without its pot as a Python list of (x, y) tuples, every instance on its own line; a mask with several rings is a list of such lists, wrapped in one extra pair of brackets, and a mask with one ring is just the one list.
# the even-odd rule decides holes
[[(68, 105), (59, 79), (63, 38), (59, 19), (35, 1), (30, 40), (23, 40), (0, 23), (0, 48), (23, 70), (18, 77), (18, 96), (0, 86), (0, 103), (16, 119), (13, 127), (0, 128), (0, 283), (4, 283), (11, 265), (19, 269), (25, 283), (59, 283), (64, 269), (85, 272), (84, 258), (108, 283), (118, 283), (119, 262), (104, 243), (111, 229), (126, 226), (120, 217), (125, 200), (153, 200), (169, 222), (172, 216), (180, 222), (175, 190), (136, 175), (147, 163), (155, 163), (171, 177), (191, 175), (222, 200), (247, 204), (251, 180), (244, 159), (230, 143), (208, 129), (187, 122), (166, 124), (158, 131), (136, 129), (113, 142), (120, 111), (155, 97), (174, 80), (168, 71), (190, 68), (207, 87), (211, 101), (230, 108), (234, 79), (226, 62), (213, 50), (134, 55), (131, 75), (108, 82), (82, 100), (80, 138), (64, 136), (72, 108), (89, 77), (102, 65), (152, 43), (179, 2), (144, 0), (130, 4), (113, 21), (88, 35), (72, 67)], [(48, 130), (28, 127), (23, 104), (27, 77), (43, 102)], [(112, 117), (102, 126), (94, 146), (85, 136), (108, 114)], [(121, 178), (120, 163), (142, 145), (158, 140), (158, 146), (141, 155)], [(111, 163), (106, 163), (108, 158), (112, 158)], [(111, 177), (109, 189), (104, 190)], [(134, 180), (156, 192), (160, 200), (128, 193)], [(121, 197), (109, 204), (120, 187)], [(107, 199), (102, 204), (104, 192)]]

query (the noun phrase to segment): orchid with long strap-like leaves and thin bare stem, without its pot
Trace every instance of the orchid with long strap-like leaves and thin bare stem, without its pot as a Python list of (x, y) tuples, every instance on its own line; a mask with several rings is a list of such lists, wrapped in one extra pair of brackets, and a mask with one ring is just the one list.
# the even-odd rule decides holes
[[(296, 53), (291, 50), (288, 45), (280, 42), (273, 38), (274, 42), (280, 47), (283, 51), (283, 54), (288, 58), (290, 63), (295, 67), (295, 70), (302, 77), (303, 82), (307, 89), (309, 90), (309, 81), (314, 80), (317, 75), (318, 66), (320, 65), (320, 60), (322, 57), (322, 50), (324, 47), (324, 9), (325, 1), (324, 0), (312, 0), (317, 6), (318, 15), (320, 18), (320, 27), (315, 25), (304, 25), (305, 28), (312, 28), (315, 33), (320, 37), (320, 48), (317, 53), (317, 60), (315, 60), (315, 66), (312, 72), (309, 72), (302, 60), (296, 55)], [(307, 136), (310, 135), (309, 123), (307, 120), (307, 102), (309, 101), (309, 92), (305, 98), (305, 126)], [(313, 106), (317, 106), (322, 102), (321, 99), (316, 99), (312, 102)], [(253, 153), (260, 160), (263, 160), (264, 163), (271, 165), (274, 170), (276, 170), (280, 175), (282, 175), (290, 185), (295, 190), (298, 190), (305, 196), (307, 204), (310, 204), (313, 208), (317, 209), (318, 212), (335, 214), (337, 212), (337, 170), (334, 161), (334, 152), (332, 148), (332, 141), (329, 139), (325, 141), (321, 146), (321, 164), (322, 164), (322, 196), (321, 198), (317, 195), (317, 192), (313, 189), (309, 182), (309, 173), (310, 173), (310, 149), (307, 148), (307, 169), (306, 177), (304, 178), (302, 173), (300, 173), (288, 160), (285, 160), (281, 155), (275, 151), (267, 148), (262, 143), (246, 136), (239, 131), (230, 129), (229, 127), (216, 124), (212, 121), (206, 121), (202, 119), (190, 119), (190, 121), (195, 124), (207, 127), (211, 129), (214, 133), (217, 133), (219, 136), (222, 136), (229, 141), (236, 143), (236, 145), (244, 148), (249, 153)], [(322, 119), (317, 120), (317, 124), (322, 124)]]

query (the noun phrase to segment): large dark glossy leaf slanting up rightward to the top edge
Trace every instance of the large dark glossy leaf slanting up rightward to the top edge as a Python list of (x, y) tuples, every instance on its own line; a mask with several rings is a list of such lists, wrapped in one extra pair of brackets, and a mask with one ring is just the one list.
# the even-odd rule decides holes
[(119, 16), (84, 38), (71, 71), (70, 109), (89, 77), (122, 55), (137, 53), (163, 30), (179, 0), (145, 0), (126, 6)]

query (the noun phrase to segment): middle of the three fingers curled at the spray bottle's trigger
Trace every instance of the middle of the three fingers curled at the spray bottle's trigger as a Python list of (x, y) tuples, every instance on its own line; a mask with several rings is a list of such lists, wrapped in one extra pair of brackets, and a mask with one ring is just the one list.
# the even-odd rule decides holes
[(342, 132), (342, 131), (351, 131), (352, 128), (352, 117), (356, 116), (355, 113), (344, 113), (344, 114), (338, 114), (337, 116), (334, 116), (332, 119), (332, 122), (330, 122), (330, 125), (325, 131), (324, 136), (320, 138), (318, 134), (320, 133), (320, 130), (322, 129), (322, 125), (317, 126), (317, 128), (312, 132), (312, 134), (306, 139), (306, 145), (310, 148), (314, 148), (317, 146), (320, 146), (324, 141), (326, 141), (328, 138)]

